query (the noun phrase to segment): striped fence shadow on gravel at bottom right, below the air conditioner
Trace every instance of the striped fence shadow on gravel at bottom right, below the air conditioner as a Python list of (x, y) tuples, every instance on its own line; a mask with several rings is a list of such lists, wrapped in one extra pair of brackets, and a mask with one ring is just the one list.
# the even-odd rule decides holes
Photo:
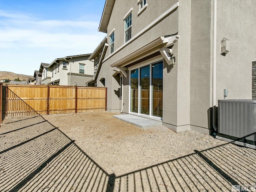
[(116, 176), (114, 191), (253, 191), (255, 159), (256, 150), (232, 143), (195, 150), (187, 156)]

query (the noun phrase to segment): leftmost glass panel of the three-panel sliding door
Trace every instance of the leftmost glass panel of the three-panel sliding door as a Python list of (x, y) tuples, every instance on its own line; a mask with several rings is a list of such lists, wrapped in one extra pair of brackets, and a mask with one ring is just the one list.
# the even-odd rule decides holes
[(131, 112), (138, 113), (139, 69), (131, 71)]

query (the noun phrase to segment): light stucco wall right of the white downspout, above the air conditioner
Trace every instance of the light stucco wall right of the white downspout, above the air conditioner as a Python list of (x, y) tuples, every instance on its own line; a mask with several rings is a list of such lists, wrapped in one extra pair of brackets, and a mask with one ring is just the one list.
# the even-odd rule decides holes
[[(228, 11), (227, 11), (228, 10)], [(256, 1), (217, 1), (216, 104), (223, 99), (252, 99), (252, 58), (256, 57)], [(239, 19), (238, 19), (239, 18)], [(230, 51), (220, 55), (222, 38), (230, 40)]]

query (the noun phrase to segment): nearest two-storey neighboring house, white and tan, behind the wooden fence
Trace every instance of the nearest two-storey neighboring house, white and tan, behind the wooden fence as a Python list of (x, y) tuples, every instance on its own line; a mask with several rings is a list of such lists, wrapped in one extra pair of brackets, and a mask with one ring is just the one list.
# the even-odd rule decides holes
[(85, 86), (93, 77), (94, 62), (88, 60), (91, 54), (57, 58), (48, 66), (50, 81), (47, 84)]

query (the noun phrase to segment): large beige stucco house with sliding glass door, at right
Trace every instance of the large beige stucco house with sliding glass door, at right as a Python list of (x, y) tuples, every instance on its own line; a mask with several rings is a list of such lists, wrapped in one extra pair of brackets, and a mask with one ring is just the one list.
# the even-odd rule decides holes
[(108, 88), (108, 111), (210, 134), (224, 89), (252, 99), (255, 10), (255, 0), (106, 0), (89, 85)]

